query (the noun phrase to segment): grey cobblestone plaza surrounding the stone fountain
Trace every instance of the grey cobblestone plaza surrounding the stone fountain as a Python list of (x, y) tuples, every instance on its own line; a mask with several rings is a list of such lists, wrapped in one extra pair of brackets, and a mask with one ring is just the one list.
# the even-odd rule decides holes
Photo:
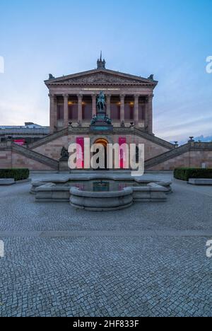
[(1, 316), (212, 315), (212, 187), (174, 183), (166, 203), (108, 213), (29, 189), (0, 187)]

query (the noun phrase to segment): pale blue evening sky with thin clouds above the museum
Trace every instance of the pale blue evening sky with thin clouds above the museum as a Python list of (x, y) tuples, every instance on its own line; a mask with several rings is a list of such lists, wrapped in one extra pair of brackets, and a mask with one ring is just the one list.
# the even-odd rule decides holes
[(43, 81), (107, 68), (159, 81), (154, 132), (212, 135), (211, 0), (37, 0), (0, 3), (0, 124), (49, 124)]

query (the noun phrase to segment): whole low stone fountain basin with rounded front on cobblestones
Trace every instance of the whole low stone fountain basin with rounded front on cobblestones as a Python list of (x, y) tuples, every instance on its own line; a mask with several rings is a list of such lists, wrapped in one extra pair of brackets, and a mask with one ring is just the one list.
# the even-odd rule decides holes
[(108, 211), (132, 202), (165, 202), (172, 182), (117, 175), (89, 175), (37, 180), (30, 192), (35, 202), (69, 202), (78, 209)]

